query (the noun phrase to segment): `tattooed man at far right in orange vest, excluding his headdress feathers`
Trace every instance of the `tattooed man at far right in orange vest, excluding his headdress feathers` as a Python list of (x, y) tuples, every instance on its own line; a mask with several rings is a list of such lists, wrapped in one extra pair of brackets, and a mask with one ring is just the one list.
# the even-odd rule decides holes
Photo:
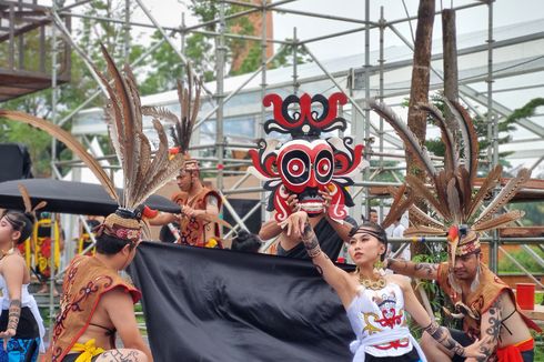
[[(453, 261), (429, 264), (387, 259), (385, 265), (400, 274), (439, 282), (456, 305), (457, 315), (453, 316), (463, 318), (463, 331), (451, 330), (462, 345), (490, 336), (481, 346), (488, 361), (511, 361), (507, 355), (512, 354), (533, 361), (534, 341), (528, 328), (540, 329), (520, 312), (512, 289), (482, 262), (477, 234), (470, 229), (460, 234)], [(430, 361), (463, 361), (427, 333), (423, 334), (421, 346)]]

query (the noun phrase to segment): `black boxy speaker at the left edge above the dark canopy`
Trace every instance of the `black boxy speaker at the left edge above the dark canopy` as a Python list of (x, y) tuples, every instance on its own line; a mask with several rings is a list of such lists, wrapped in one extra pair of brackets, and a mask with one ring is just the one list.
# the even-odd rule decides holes
[(0, 182), (32, 179), (32, 161), (21, 143), (0, 143)]

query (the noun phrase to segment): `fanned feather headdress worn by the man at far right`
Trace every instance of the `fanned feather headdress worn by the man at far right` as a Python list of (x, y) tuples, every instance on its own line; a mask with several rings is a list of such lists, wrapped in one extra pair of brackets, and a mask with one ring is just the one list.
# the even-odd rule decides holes
[[(512, 211), (500, 217), (495, 213), (501, 210), (528, 180), (530, 171), (522, 169), (517, 177), (510, 180), (503, 190), (482, 211), (478, 207), (493, 188), (500, 182), (502, 168), (495, 167), (485, 178), (480, 190), (473, 194), (474, 181), (477, 171), (478, 143), (474, 123), (466, 110), (457, 102), (444, 100), (445, 105), (454, 115), (454, 124), (445, 122), (441, 111), (431, 104), (417, 107), (436, 121), (445, 145), (444, 168), (437, 170), (429, 158), (427, 152), (420, 145), (412, 132), (394, 112), (374, 100), (371, 108), (385, 119), (399, 133), (407, 149), (414, 154), (416, 161), (424, 168), (429, 175), (431, 187), (424, 180), (413, 175), (406, 175), (406, 183), (423, 198), (442, 220), (436, 220), (415, 205), (411, 211), (415, 215), (413, 227), (409, 228), (405, 235), (449, 235), (450, 262), (453, 264), (455, 255), (474, 252), (480, 248), (477, 233), (498, 228), (523, 217), (523, 212)], [(460, 148), (456, 147), (454, 135), (461, 134), (463, 161), (460, 162)], [(476, 215), (478, 214), (478, 215)], [(460, 227), (462, 232), (460, 232)], [(466, 227), (470, 225), (470, 227)]]

